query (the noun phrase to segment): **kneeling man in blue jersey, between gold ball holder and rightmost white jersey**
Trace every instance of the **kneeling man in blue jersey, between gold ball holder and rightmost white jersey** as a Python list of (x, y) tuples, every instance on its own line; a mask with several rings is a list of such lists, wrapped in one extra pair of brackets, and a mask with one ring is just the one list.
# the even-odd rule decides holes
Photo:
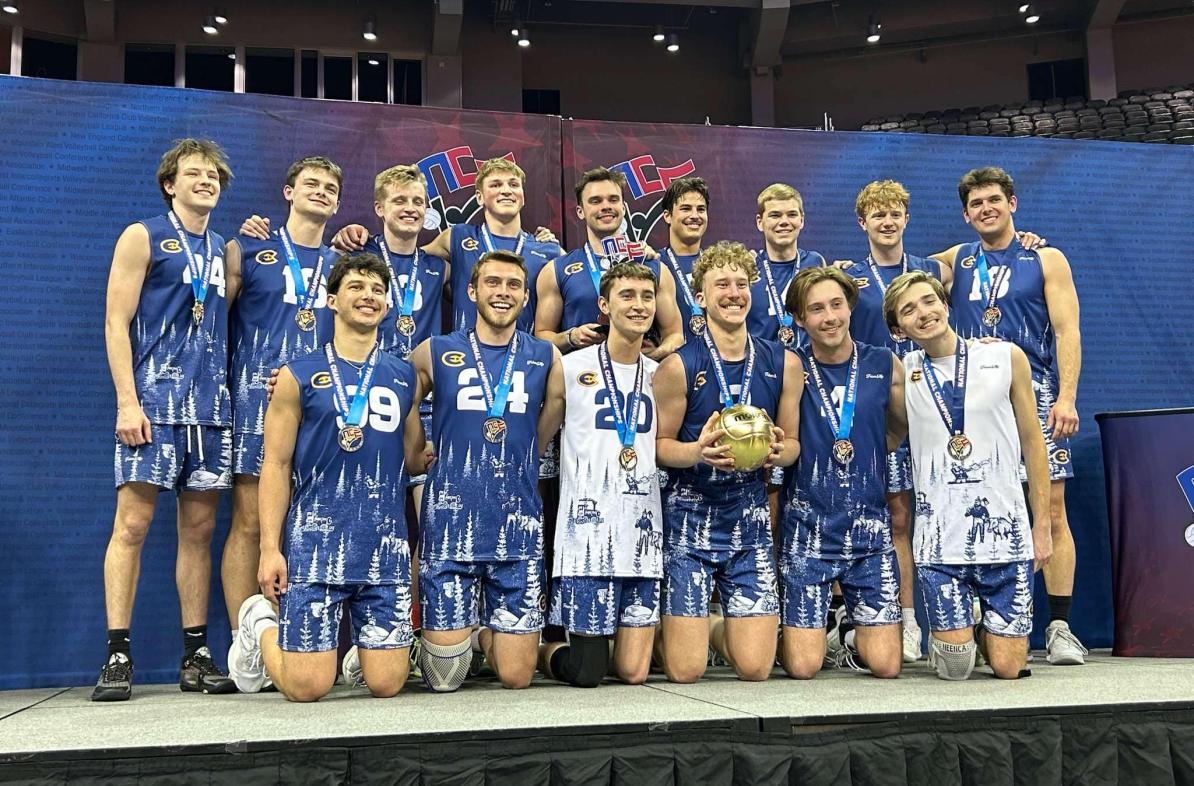
[[(836, 268), (801, 270), (786, 307), (808, 336), (800, 348), (800, 458), (788, 473), (781, 523), (782, 663), (811, 678), (825, 659), (831, 585), (853, 630), (839, 667), (878, 677), (900, 670), (900, 573), (887, 510), (887, 452), (906, 434), (903, 366), (886, 346), (851, 338), (858, 285)], [(907, 583), (907, 582), (905, 582)]]

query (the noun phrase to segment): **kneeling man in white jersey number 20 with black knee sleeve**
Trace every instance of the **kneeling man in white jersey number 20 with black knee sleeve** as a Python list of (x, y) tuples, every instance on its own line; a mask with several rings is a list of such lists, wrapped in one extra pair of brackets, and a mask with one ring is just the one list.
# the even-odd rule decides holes
[(658, 363), (642, 356), (656, 315), (654, 274), (633, 263), (611, 266), (598, 305), (609, 317), (609, 337), (564, 357), (550, 622), (567, 630), (568, 641), (540, 652), (547, 676), (585, 688), (605, 677), (610, 643), (620, 680), (647, 678), (663, 570)]

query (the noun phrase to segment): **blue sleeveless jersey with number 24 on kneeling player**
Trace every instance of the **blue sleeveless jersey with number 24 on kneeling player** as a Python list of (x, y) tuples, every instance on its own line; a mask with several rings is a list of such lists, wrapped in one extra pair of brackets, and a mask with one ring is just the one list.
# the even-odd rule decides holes
[[(543, 554), (538, 497), (538, 415), (553, 351), (518, 332), (518, 358), (506, 400), (506, 436), (486, 442), (485, 394), (467, 331), (431, 339), (436, 407), (431, 441), (438, 459), (423, 492), (423, 557), (439, 560), (522, 560)], [(497, 388), (506, 346), (480, 344)]]

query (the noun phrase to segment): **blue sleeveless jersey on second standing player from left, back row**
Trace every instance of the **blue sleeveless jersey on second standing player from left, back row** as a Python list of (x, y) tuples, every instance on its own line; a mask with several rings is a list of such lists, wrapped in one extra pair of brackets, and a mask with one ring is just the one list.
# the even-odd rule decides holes
[[(295, 323), (301, 305), (278, 233), (272, 233), (269, 240), (240, 235), (236, 242), (241, 248), (241, 283), (232, 312), (233, 431), (264, 434), (270, 371), (315, 351), (332, 338), (327, 275), (336, 263), (336, 252), (327, 246), (309, 248), (293, 244), (303, 285), (308, 291), (313, 283), (319, 287), (313, 303), (315, 330), (303, 331)], [(313, 282), (320, 257), (324, 268), (319, 281)]]

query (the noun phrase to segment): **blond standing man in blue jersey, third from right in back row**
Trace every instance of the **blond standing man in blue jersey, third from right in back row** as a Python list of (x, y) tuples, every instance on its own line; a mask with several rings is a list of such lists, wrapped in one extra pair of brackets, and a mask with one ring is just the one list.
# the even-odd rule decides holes
[(800, 247), (805, 228), (805, 201), (787, 183), (773, 183), (756, 199), (755, 226), (763, 233), (763, 250), (757, 252), (758, 278), (751, 282), (751, 311), (746, 327), (751, 336), (778, 340), (788, 349), (804, 343), (792, 315), (783, 311), (788, 285), (796, 271), (820, 268), (825, 258)]

